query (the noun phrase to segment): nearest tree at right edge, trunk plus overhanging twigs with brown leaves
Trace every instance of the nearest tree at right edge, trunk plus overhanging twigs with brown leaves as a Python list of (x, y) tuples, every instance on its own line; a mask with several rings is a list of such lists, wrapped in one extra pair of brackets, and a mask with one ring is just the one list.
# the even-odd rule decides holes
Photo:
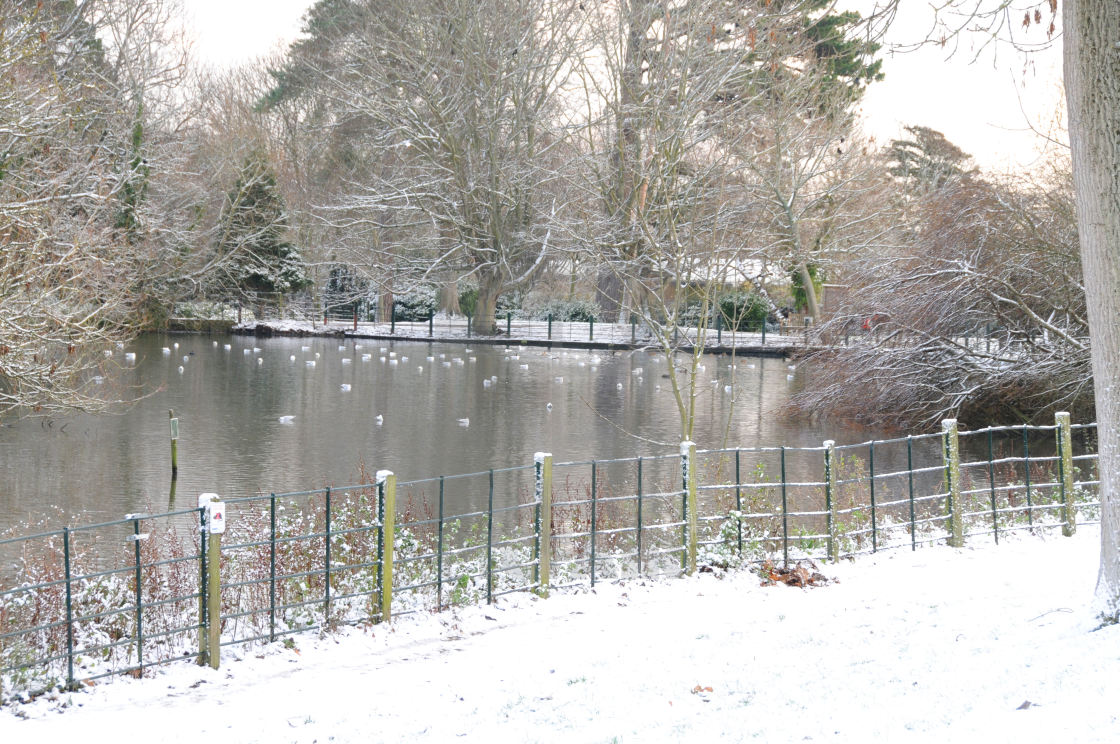
[[(889, 21), (899, 0), (877, 3), (876, 19)], [(964, 29), (979, 28), (990, 41), (1010, 40), (1030, 49), (1049, 44), (1061, 12), (1063, 69), (1070, 147), (1084, 275), (1093, 390), (1096, 407), (1101, 494), (1101, 567), (1096, 584), (1100, 613), (1120, 621), (1120, 66), (1113, 0), (976, 2), (940, 6), (926, 41), (944, 44)], [(1030, 35), (1032, 29), (1035, 30)], [(1038, 34), (1043, 30), (1045, 38)]]

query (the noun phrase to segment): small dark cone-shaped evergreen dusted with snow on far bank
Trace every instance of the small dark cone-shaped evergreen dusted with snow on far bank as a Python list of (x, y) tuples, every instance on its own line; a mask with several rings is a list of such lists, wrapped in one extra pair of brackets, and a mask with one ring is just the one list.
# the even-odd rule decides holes
[(252, 295), (258, 315), (267, 304), (311, 283), (299, 249), (284, 239), (287, 230), (276, 175), (264, 154), (254, 150), (222, 207), (216, 249), (226, 257), (220, 286)]

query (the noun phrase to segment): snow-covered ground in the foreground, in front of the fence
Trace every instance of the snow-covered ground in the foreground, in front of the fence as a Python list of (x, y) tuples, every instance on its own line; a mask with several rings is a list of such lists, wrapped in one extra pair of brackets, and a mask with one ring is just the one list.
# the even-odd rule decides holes
[[(401, 617), (0, 709), (0, 742), (1116, 742), (1099, 532)], [(236, 658), (234, 658), (236, 657)]]

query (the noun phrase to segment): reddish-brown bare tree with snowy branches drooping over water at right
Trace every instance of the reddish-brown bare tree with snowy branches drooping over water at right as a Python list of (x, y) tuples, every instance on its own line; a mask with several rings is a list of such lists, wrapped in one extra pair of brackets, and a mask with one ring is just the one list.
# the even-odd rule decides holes
[(896, 245), (849, 264), (851, 291), (802, 368), (795, 408), (932, 426), (1091, 406), (1067, 170), (997, 184), (962, 174), (896, 216)]

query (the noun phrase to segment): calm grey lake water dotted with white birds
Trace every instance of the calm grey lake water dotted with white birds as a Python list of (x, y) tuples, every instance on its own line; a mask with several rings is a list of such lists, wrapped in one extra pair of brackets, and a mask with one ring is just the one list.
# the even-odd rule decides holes
[[(679, 417), (659, 355), (505, 348), (141, 337), (113, 356), (125, 368), (121, 380), (104, 383), (106, 393), (143, 396), (138, 402), (112, 416), (0, 428), (0, 530), (189, 508), (206, 491), (236, 497), (352, 484), (363, 465), (408, 481), (528, 465), (540, 450), (557, 462), (678, 450)], [(136, 362), (125, 363), (124, 352)], [(833, 424), (825, 431), (785, 420), (787, 363), (735, 362), (732, 369), (727, 356), (704, 360), (693, 437), (701, 448), (872, 437), (862, 428)], [(180, 427), (174, 504), (168, 409)]]

